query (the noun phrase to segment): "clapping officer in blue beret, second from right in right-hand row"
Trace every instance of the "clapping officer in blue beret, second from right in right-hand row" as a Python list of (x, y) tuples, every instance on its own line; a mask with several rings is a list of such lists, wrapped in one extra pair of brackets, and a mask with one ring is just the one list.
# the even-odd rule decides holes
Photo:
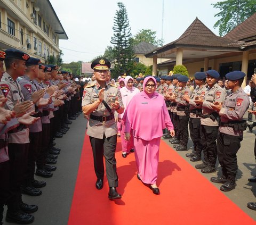
[(204, 98), (198, 97), (194, 100), (197, 105), (202, 105), (200, 134), (204, 149), (204, 163), (196, 165), (196, 169), (201, 169), (203, 173), (212, 173), (215, 172), (217, 161), (216, 139), (219, 128), (219, 114), (213, 109), (213, 105), (215, 102), (223, 102), (225, 93), (217, 83), (220, 74), (216, 70), (205, 73), (208, 87)]

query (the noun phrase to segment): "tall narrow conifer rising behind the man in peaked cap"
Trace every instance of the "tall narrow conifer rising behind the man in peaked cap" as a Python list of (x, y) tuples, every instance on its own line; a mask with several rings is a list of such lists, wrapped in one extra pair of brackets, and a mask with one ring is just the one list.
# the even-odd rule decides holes
[(115, 66), (113, 77), (122, 72), (130, 73), (133, 68), (134, 52), (132, 49), (132, 34), (129, 25), (129, 19), (125, 5), (122, 2), (117, 3), (119, 10), (116, 10), (114, 17), (114, 36), (111, 37), (110, 43), (114, 45), (113, 56)]

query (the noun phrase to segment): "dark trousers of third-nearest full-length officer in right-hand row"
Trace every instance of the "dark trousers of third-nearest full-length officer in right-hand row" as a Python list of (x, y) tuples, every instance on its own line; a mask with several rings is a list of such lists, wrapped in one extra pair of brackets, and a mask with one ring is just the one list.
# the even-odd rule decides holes
[(196, 152), (197, 155), (201, 156), (203, 146), (201, 143), (200, 126), (200, 118), (189, 118), (189, 132), (190, 138), (192, 139), (194, 144), (194, 151)]

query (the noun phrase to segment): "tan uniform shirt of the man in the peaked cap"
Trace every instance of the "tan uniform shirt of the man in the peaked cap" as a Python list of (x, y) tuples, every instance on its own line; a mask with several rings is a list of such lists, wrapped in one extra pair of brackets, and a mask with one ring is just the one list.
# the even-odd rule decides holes
[[(82, 106), (89, 105), (97, 101), (99, 99), (99, 95), (97, 92), (100, 91), (100, 89), (101, 87), (98, 82), (86, 86), (84, 88)], [(115, 102), (116, 97), (118, 97), (119, 105), (123, 106), (120, 90), (113, 85), (107, 84), (104, 91), (104, 100), (109, 105), (109, 107), (111, 102)], [(113, 114), (115, 114), (115, 109), (112, 109), (112, 112)], [(110, 116), (109, 111), (107, 110), (105, 105), (103, 105), (103, 103), (100, 103), (98, 108), (95, 109), (91, 114), (96, 116)], [(102, 123), (98, 120), (92, 120), (91, 118), (89, 119), (89, 123), (87, 126), (87, 135), (89, 135), (90, 137), (102, 139), (103, 135), (108, 138), (116, 134), (117, 124), (115, 122), (115, 119), (106, 121), (105, 123)]]

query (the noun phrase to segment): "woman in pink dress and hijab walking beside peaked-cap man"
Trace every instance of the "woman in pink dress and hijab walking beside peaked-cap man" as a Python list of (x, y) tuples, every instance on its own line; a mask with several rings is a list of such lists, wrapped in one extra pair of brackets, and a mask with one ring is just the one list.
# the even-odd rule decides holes
[(156, 180), (160, 140), (166, 127), (171, 136), (175, 132), (164, 97), (155, 90), (155, 78), (146, 77), (143, 91), (132, 98), (123, 120), (126, 140), (130, 140), (130, 131), (133, 130), (137, 177), (144, 184), (148, 184), (154, 194), (159, 195)]

